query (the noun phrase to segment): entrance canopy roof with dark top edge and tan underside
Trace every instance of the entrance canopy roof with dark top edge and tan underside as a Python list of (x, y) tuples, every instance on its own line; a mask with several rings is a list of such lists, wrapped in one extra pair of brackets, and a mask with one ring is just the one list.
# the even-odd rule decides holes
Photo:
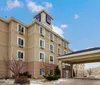
[(74, 51), (57, 58), (58, 61), (69, 64), (100, 62), (100, 47)]

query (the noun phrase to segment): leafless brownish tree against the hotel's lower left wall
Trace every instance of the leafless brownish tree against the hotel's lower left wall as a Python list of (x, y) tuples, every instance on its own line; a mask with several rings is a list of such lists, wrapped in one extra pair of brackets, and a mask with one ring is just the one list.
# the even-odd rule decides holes
[(26, 64), (22, 60), (20, 59), (17, 60), (14, 57), (10, 57), (10, 58), (3, 57), (3, 60), (7, 69), (14, 74), (15, 79), (18, 77), (18, 74), (21, 73), (22, 70), (26, 67)]

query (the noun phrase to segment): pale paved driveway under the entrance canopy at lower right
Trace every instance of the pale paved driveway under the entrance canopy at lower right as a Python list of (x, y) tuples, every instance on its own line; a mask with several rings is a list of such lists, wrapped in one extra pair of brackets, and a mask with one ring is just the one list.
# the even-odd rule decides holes
[(100, 80), (66, 79), (56, 85), (100, 85)]

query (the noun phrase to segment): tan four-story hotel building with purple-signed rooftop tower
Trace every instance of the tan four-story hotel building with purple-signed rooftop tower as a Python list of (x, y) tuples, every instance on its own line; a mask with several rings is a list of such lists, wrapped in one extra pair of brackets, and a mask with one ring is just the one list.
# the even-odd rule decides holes
[(69, 42), (52, 29), (53, 18), (44, 10), (34, 16), (30, 24), (11, 17), (0, 18), (0, 77), (12, 76), (2, 61), (2, 57), (14, 56), (27, 63), (26, 70), (32, 77), (43, 75), (41, 61), (57, 65), (57, 56), (70, 53)]

